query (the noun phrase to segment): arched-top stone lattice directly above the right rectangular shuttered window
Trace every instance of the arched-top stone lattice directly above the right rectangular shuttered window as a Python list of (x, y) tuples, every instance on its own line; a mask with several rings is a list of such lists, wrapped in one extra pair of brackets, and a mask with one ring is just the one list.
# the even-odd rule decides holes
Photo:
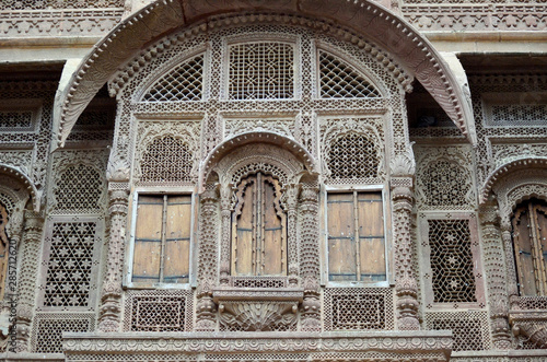
[(327, 165), (331, 179), (377, 177), (379, 151), (365, 135), (349, 132), (333, 140)]

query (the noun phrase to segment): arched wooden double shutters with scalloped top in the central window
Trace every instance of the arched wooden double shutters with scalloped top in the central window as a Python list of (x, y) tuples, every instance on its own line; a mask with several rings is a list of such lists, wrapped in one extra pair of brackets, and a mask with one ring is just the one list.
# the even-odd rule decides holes
[(287, 275), (287, 217), (281, 186), (258, 172), (241, 180), (232, 213), (232, 275)]

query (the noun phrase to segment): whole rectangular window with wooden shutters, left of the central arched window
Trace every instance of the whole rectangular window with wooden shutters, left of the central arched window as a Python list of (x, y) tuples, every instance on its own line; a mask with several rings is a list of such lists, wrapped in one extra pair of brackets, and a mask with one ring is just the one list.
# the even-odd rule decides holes
[(191, 195), (140, 195), (132, 282), (187, 283)]

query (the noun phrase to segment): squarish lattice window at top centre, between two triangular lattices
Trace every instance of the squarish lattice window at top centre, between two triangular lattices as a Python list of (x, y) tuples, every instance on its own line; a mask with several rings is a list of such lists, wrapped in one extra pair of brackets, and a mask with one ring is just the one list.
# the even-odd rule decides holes
[(230, 100), (294, 97), (294, 46), (286, 43), (245, 43), (229, 47)]

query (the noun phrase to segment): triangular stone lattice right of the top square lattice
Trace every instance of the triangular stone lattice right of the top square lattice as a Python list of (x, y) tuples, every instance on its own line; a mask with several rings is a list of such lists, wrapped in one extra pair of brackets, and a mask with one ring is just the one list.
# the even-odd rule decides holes
[(379, 91), (335, 56), (319, 52), (319, 77), (322, 98), (374, 98)]

